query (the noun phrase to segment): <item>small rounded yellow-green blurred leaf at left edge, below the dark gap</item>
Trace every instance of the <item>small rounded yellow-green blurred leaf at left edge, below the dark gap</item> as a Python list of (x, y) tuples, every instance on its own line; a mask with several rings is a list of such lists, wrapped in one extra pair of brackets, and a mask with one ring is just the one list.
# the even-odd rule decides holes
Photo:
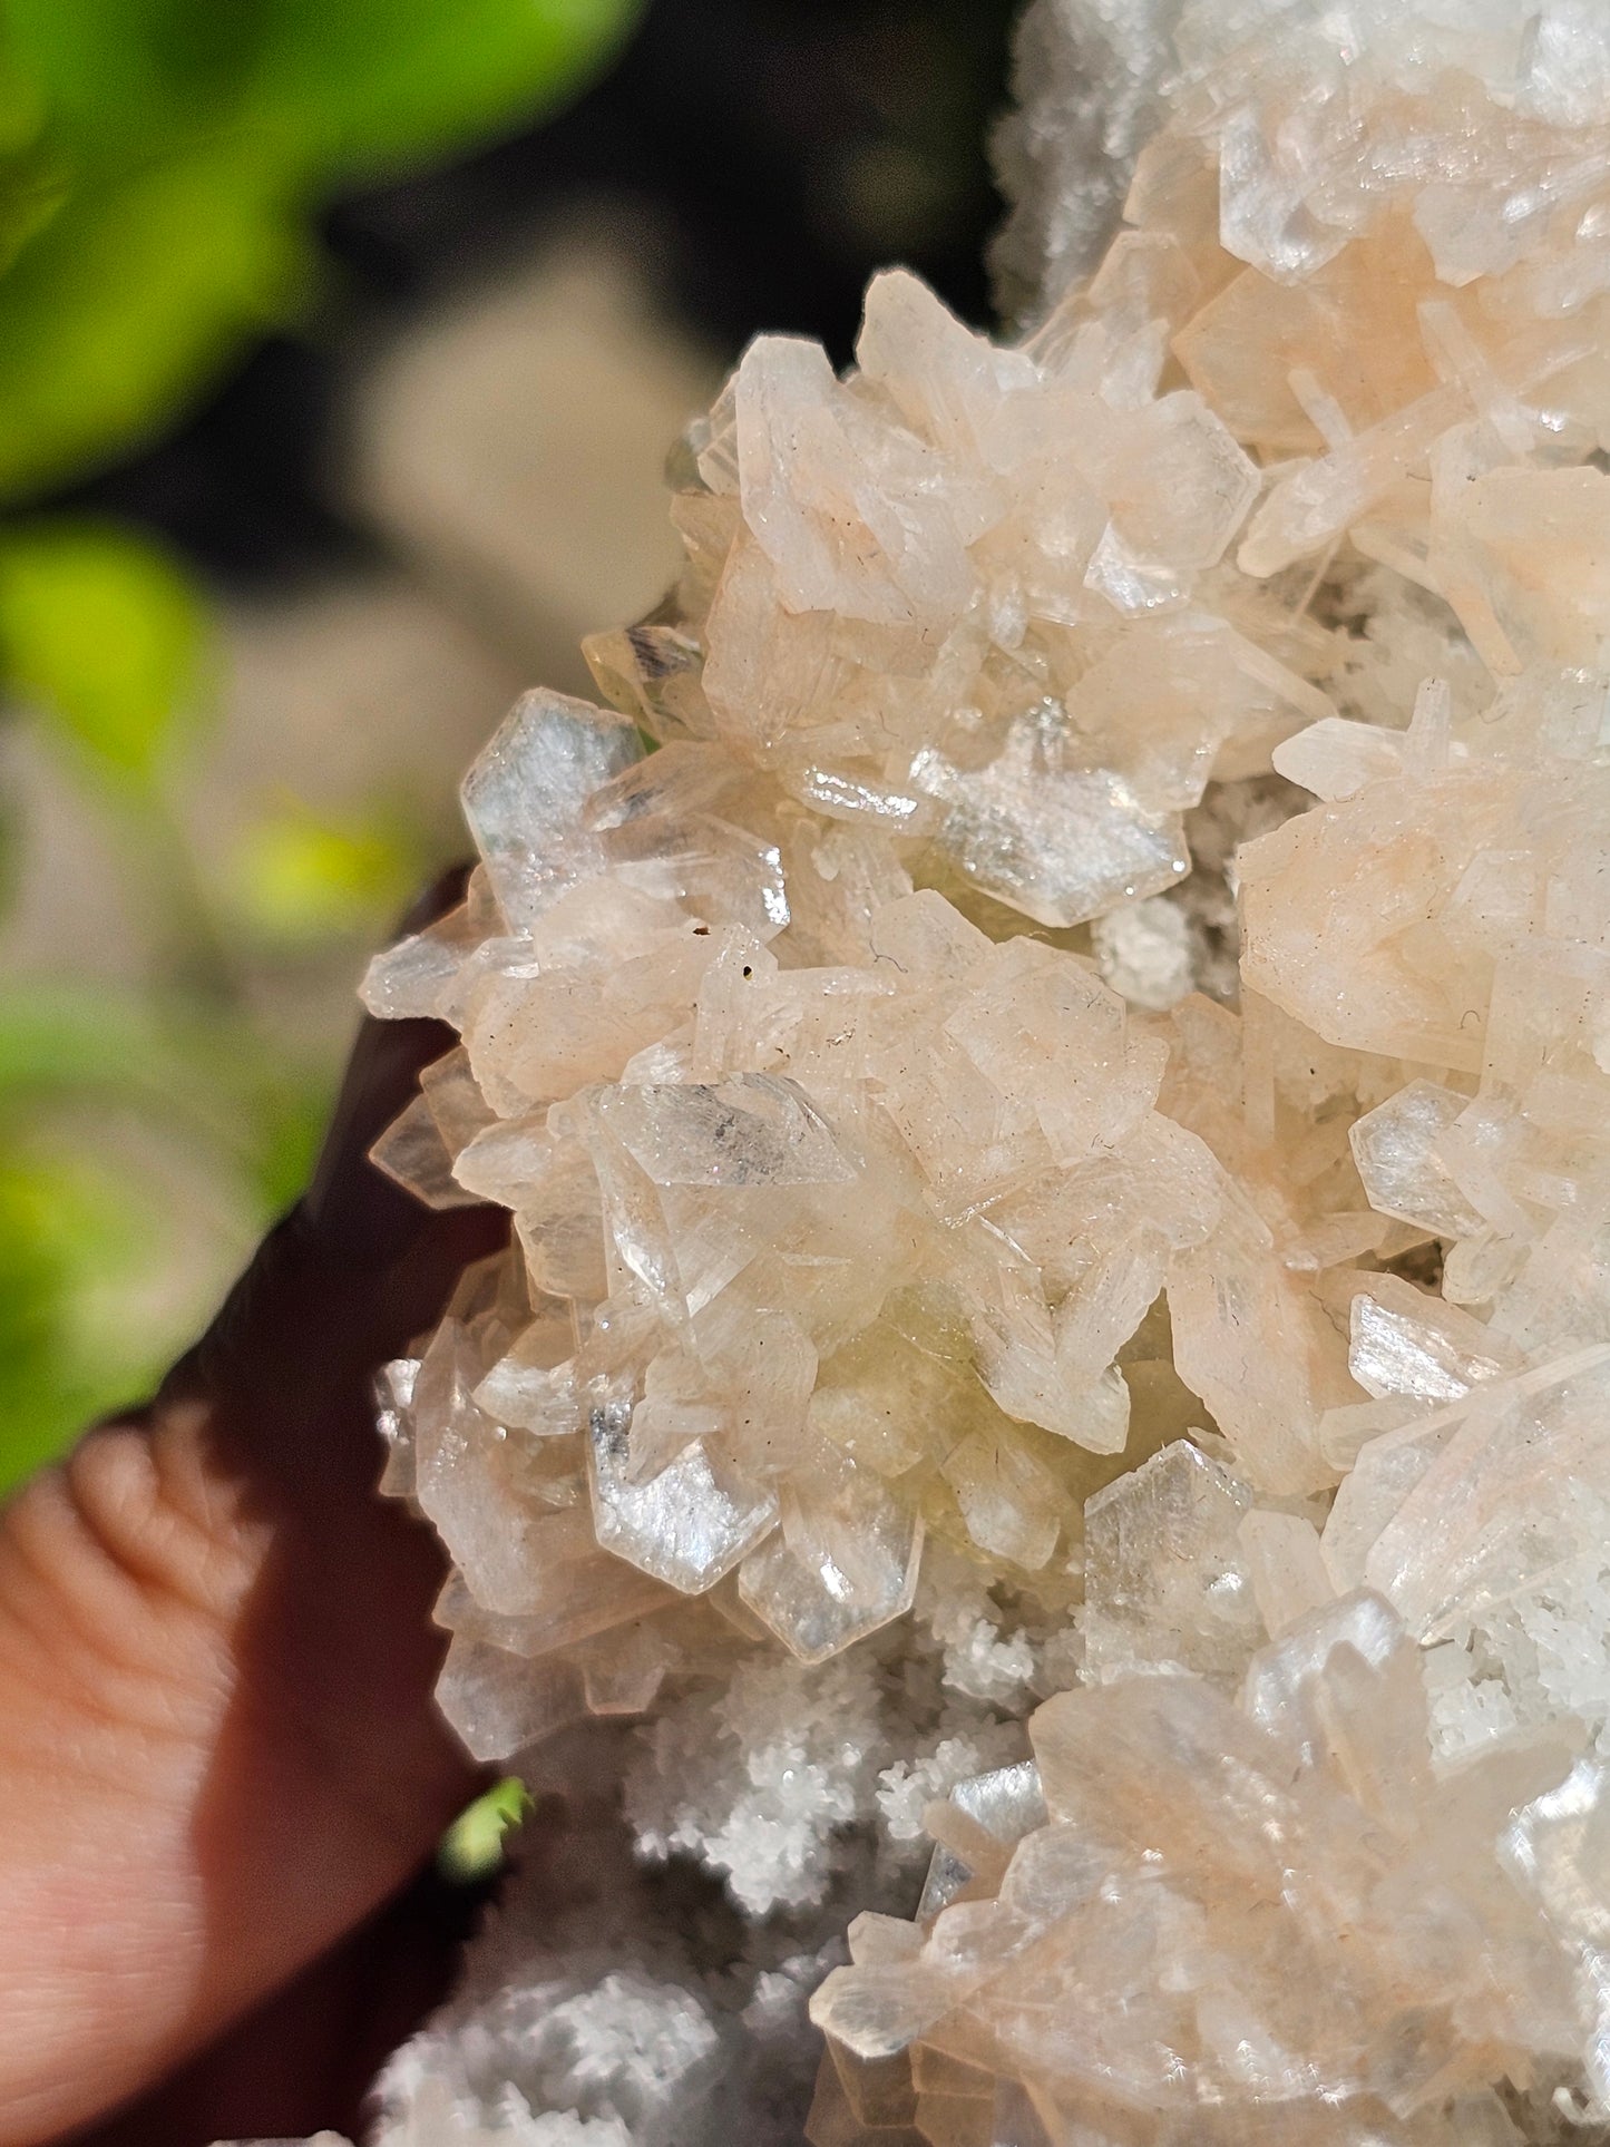
[(56, 721), (101, 777), (152, 782), (200, 709), (208, 655), (202, 597), (148, 539), (88, 522), (0, 530), (11, 691)]

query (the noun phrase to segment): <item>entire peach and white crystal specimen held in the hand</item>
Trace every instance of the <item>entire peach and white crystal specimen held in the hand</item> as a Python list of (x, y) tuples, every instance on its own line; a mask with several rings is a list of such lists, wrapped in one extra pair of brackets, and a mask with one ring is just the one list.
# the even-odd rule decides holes
[(1610, 11), (1024, 52), (1033, 333), (760, 337), (369, 975), (442, 1703), (749, 1919), (511, 1909), (391, 2143), (1610, 2138)]

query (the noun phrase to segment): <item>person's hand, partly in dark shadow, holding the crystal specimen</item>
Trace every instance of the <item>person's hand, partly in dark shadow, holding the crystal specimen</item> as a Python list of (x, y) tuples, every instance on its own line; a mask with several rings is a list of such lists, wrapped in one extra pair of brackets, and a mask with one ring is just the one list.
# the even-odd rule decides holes
[(0, 1511), (0, 2147), (350, 2130), (442, 1988), (472, 1904), (429, 1859), (479, 1784), (369, 1389), (504, 1217), (367, 1149), (451, 1041), (365, 1024), (208, 1335)]

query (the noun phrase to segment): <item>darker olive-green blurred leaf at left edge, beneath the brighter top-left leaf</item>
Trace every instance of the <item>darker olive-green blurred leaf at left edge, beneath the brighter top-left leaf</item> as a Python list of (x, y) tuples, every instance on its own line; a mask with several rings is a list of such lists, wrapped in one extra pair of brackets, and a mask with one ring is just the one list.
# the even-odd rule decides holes
[(247, 142), (75, 191), (0, 277), (0, 498), (152, 434), (296, 311), (311, 260)]

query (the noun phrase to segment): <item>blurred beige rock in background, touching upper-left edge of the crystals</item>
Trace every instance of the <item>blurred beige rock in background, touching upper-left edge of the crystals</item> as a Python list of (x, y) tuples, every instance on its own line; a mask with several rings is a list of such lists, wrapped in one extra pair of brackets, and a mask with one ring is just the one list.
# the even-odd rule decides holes
[(627, 258), (573, 230), (374, 365), (350, 494), (528, 681), (584, 689), (577, 638), (676, 573), (665, 451), (717, 386)]

